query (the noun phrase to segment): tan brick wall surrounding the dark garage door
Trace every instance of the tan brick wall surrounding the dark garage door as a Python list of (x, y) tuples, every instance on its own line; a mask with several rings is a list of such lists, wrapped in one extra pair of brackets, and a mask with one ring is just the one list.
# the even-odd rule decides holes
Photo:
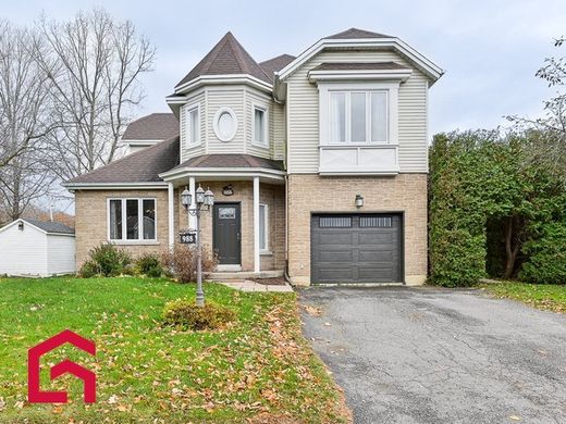
[[(313, 212), (403, 212), (405, 283), (427, 278), (427, 175), (395, 177), (288, 176), (288, 275), (310, 284), (310, 216)], [(354, 199), (364, 196), (357, 210)]]

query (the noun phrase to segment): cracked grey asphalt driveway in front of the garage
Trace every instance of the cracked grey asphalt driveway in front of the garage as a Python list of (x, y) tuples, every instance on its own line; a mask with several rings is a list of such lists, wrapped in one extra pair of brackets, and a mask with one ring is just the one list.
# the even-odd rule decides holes
[(479, 290), (299, 292), (356, 423), (566, 423), (566, 316)]

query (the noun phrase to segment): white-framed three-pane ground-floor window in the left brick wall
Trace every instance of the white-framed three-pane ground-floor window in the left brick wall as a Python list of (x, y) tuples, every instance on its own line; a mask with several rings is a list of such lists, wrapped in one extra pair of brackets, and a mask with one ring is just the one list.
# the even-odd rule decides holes
[(108, 240), (157, 241), (156, 199), (108, 199)]

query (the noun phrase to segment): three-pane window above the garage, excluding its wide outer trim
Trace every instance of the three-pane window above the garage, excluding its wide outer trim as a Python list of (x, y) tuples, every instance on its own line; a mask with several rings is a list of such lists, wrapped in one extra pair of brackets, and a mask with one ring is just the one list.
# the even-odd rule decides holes
[(387, 142), (387, 91), (330, 91), (330, 142)]

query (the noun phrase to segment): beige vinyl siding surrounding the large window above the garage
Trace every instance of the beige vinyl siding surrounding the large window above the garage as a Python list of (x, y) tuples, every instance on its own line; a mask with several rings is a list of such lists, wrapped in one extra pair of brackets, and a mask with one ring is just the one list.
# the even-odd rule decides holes
[[(287, 79), (288, 173), (317, 173), (319, 166), (319, 93), (307, 73), (323, 62), (395, 61), (409, 66), (392, 51), (327, 51)], [(427, 172), (427, 77), (414, 67), (398, 91), (398, 160), (401, 172)]]

